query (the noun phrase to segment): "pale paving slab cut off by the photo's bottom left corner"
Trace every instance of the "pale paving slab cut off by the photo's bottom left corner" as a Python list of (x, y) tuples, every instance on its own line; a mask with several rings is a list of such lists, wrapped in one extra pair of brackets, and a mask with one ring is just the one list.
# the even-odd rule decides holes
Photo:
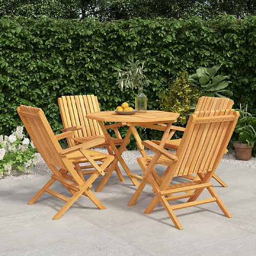
[(2, 252), (2, 255), (55, 255), (55, 256), (147, 256), (151, 255), (130, 243), (113, 236), (106, 230), (79, 233), (79, 236), (53, 240), (36, 246), (28, 245)]

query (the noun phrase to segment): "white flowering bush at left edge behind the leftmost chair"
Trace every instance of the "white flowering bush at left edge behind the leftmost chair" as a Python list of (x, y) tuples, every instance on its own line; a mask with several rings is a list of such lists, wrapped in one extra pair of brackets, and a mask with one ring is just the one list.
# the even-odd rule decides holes
[(33, 142), (23, 133), (24, 127), (17, 126), (10, 136), (0, 136), (0, 176), (12, 170), (28, 171), (38, 161)]

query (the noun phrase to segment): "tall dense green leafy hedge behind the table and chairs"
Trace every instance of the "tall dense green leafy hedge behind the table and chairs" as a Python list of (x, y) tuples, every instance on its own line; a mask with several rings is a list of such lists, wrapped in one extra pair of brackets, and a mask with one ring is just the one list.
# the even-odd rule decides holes
[[(0, 19), (0, 134), (8, 134), (20, 119), (19, 104), (45, 111), (54, 131), (61, 129), (57, 98), (95, 94), (101, 110), (121, 102), (134, 103), (136, 92), (121, 92), (115, 69), (129, 58), (145, 61), (152, 81), (145, 88), (148, 109), (157, 101), (169, 79), (187, 69), (223, 63), (230, 75), (235, 106), (248, 103), (256, 110), (256, 16), (238, 20), (53, 20), (15, 17)], [(141, 131), (142, 132), (142, 131)], [(144, 138), (159, 136), (143, 132)]]

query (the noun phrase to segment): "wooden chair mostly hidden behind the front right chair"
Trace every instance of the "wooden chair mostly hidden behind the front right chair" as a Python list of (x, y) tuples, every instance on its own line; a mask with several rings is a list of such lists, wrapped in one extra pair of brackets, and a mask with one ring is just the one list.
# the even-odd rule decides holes
[[(198, 103), (196, 105), (195, 112), (198, 111), (209, 111), (209, 110), (226, 110), (226, 109), (232, 109), (234, 102), (228, 98), (215, 98), (215, 97), (201, 97), (198, 100)], [(171, 138), (174, 136), (176, 131), (184, 132), (184, 127), (179, 127), (172, 125), (172, 131), (169, 134), (168, 139), (165, 142), (164, 147), (168, 148), (169, 150), (178, 150), (178, 147), (180, 145), (181, 139), (175, 139), (171, 140)], [(159, 145), (159, 140), (152, 140), (156, 144)], [(227, 152), (227, 151), (226, 151)], [(190, 179), (190, 180), (198, 180), (198, 177), (194, 177), (193, 175), (186, 175), (184, 178)], [(223, 187), (227, 187), (227, 184), (217, 175), (214, 174), (212, 178), (216, 179)]]

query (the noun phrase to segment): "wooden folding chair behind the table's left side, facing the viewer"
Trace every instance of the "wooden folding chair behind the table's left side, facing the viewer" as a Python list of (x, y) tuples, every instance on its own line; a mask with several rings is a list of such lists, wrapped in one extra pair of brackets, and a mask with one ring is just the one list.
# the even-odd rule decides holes
[[(94, 95), (75, 95), (75, 96), (61, 96), (58, 98), (60, 115), (64, 129), (61, 131), (74, 131), (73, 140), (76, 144), (88, 142), (97, 138), (102, 138), (104, 141), (94, 147), (106, 147), (110, 155), (114, 155), (112, 147), (109, 142), (105, 140), (105, 136), (96, 120), (87, 119), (86, 115), (94, 112), (99, 112), (98, 99)], [(125, 126), (126, 123), (115, 123), (105, 126), (106, 129), (113, 129), (116, 138), (113, 138), (115, 145), (121, 145), (123, 139), (118, 131), (118, 127)], [(129, 142), (128, 142), (129, 143)], [(68, 144), (71, 146), (70, 139)], [(86, 167), (82, 167), (86, 168)], [(118, 164), (116, 164), (115, 171), (120, 181), (124, 181)], [(84, 173), (86, 174), (86, 173)], [(104, 180), (105, 181), (105, 180)], [(103, 183), (100, 183), (95, 191), (101, 191)]]

